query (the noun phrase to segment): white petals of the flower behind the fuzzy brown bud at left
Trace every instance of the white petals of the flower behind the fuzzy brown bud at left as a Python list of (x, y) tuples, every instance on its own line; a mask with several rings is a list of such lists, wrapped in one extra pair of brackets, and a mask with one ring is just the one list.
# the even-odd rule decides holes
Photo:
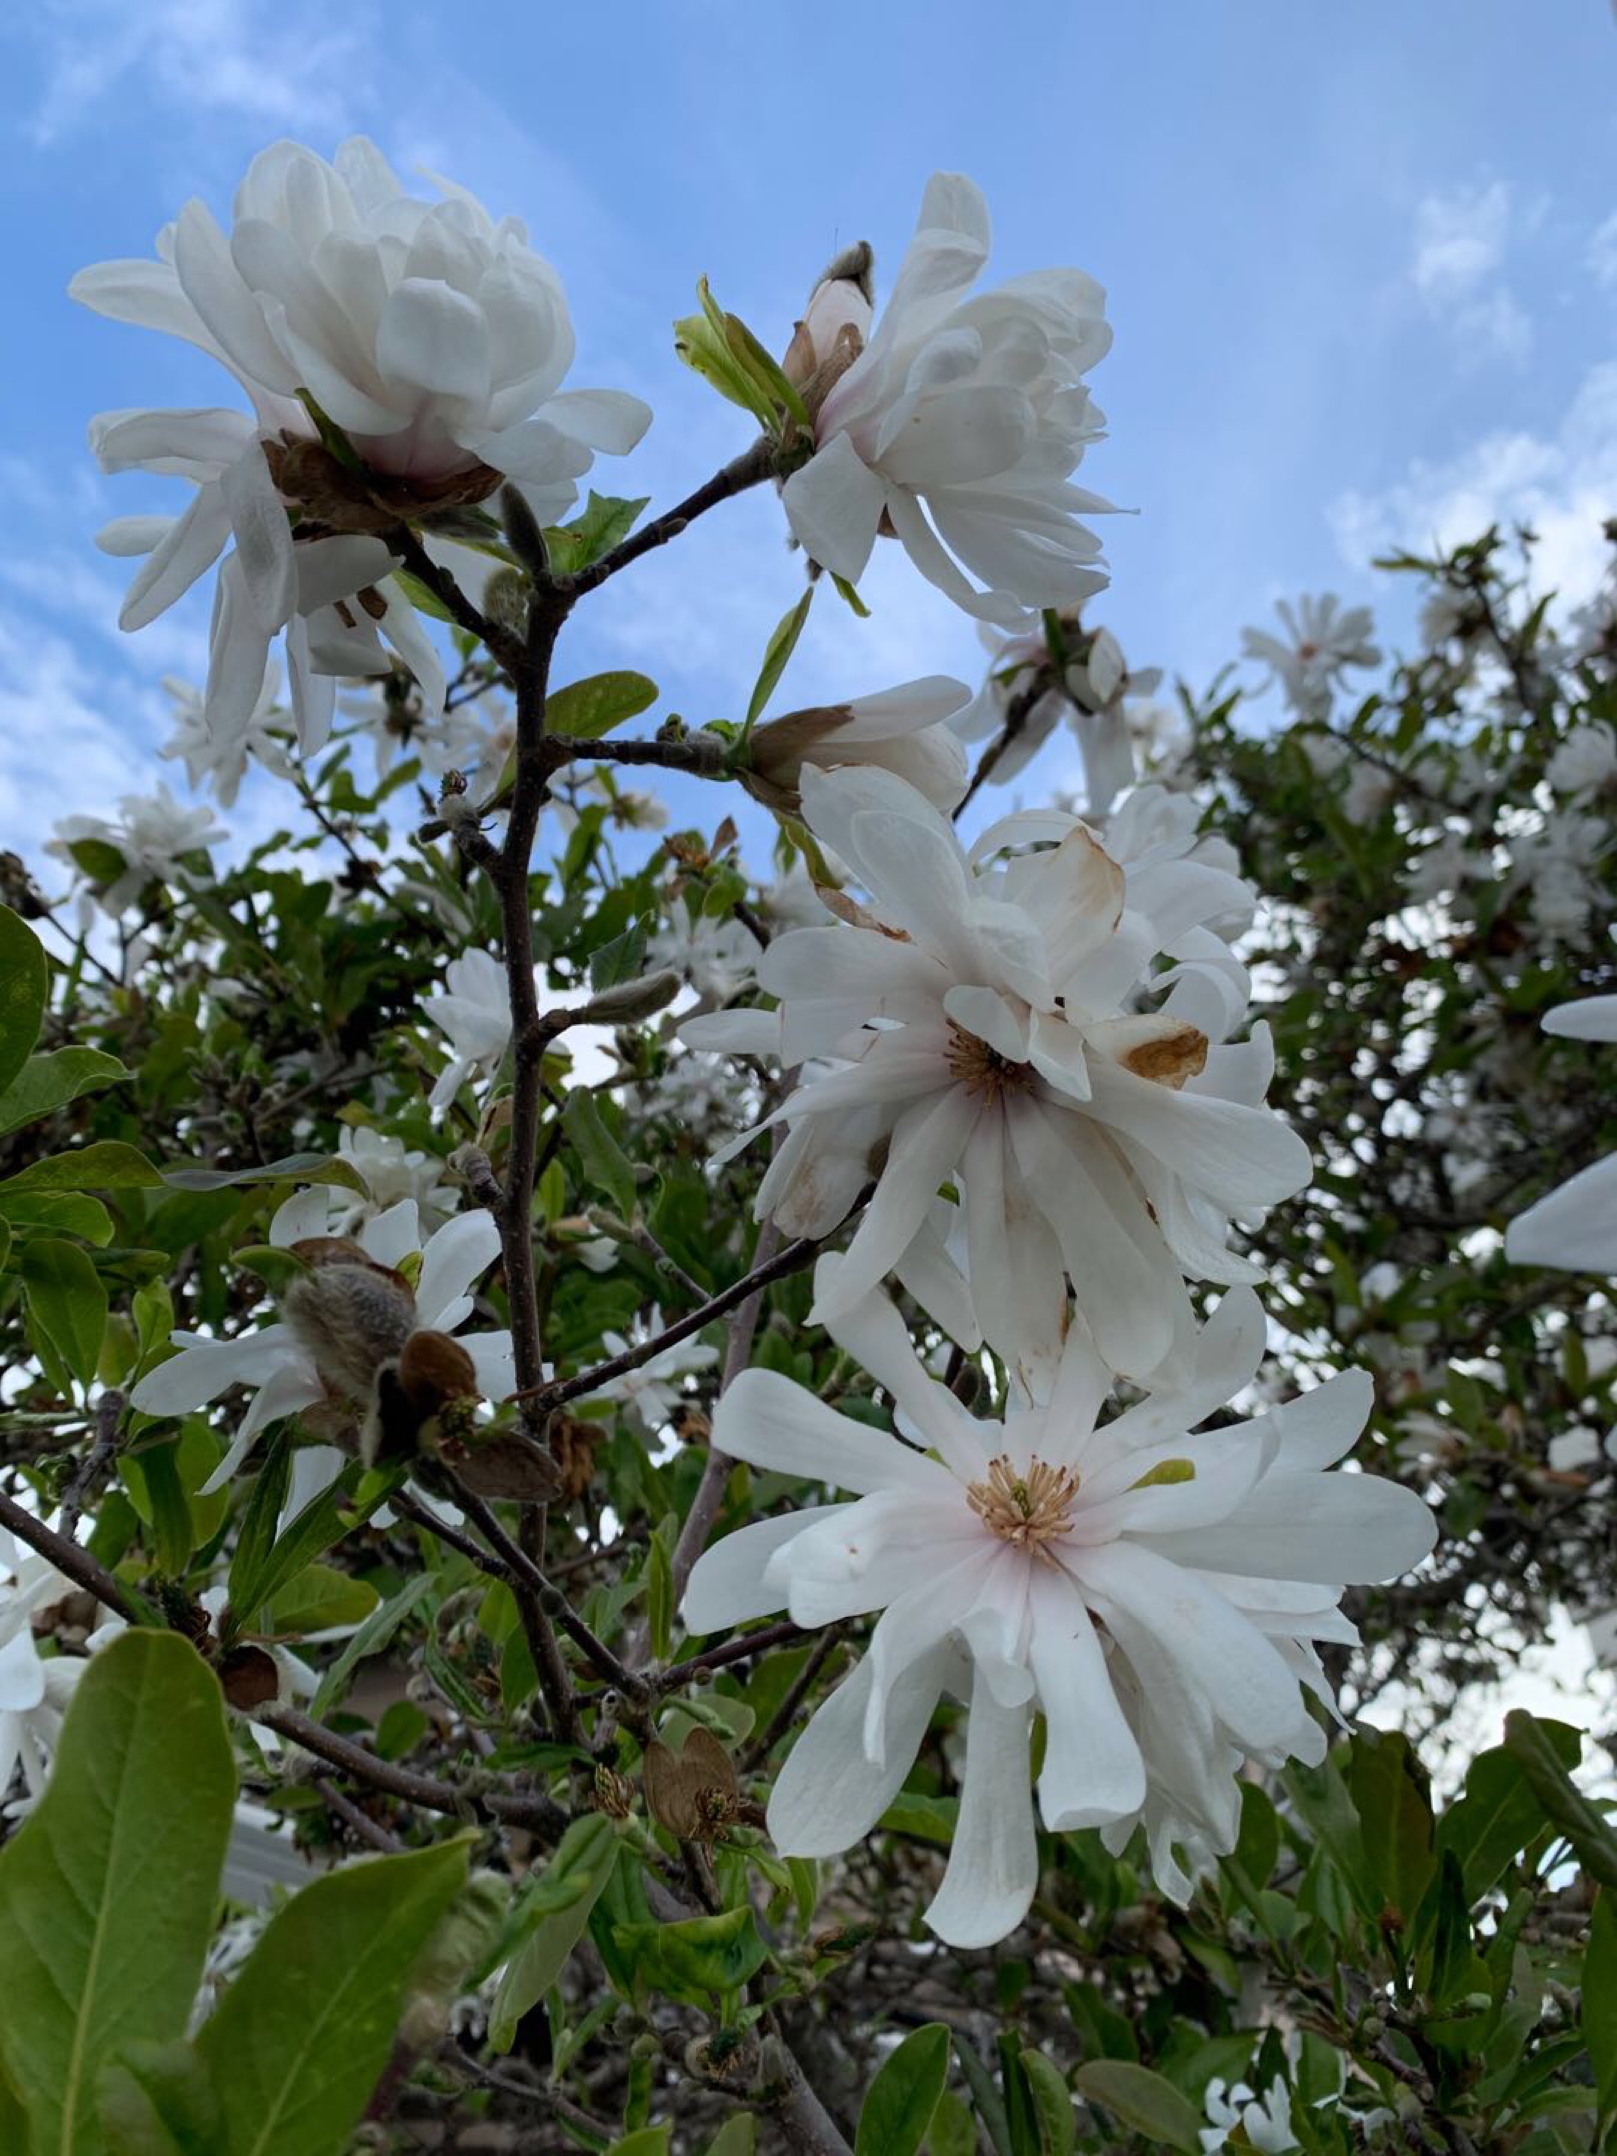
[[(300, 1194), (298, 1207), (280, 1207), (272, 1240), (285, 1248), (306, 1235), (323, 1235), (326, 1218), (326, 1190), (315, 1186)], [(420, 1253), (420, 1274), (414, 1285), (416, 1326), (436, 1332), (453, 1332), (470, 1317), (472, 1283), (500, 1255), (500, 1231), (489, 1214), (457, 1214), (423, 1238), (412, 1199), (367, 1220), (354, 1240), (377, 1266), (399, 1266), (412, 1253)], [(315, 1358), (289, 1324), (259, 1326), (257, 1332), (241, 1332), (235, 1339), (175, 1332), (175, 1343), (179, 1354), (147, 1371), (129, 1393), (129, 1404), (142, 1414), (192, 1414), (229, 1393), (233, 1384), (252, 1393), (229, 1451), (203, 1483), (203, 1494), (220, 1490), (235, 1475), (261, 1429), (330, 1397)], [(505, 1399), (515, 1388), (507, 1330), (464, 1332), (459, 1345), (472, 1358), (479, 1391), (487, 1399)]]

